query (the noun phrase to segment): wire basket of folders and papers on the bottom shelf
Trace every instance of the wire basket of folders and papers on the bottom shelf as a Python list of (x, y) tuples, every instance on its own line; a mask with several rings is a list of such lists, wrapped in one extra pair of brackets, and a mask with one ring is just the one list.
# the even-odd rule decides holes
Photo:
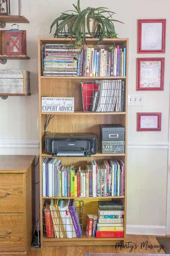
[[(53, 200), (53, 199), (52, 199)], [(71, 201), (70, 206), (67, 202)], [(84, 201), (62, 200), (62, 205), (54, 206), (54, 203), (43, 207), (43, 226), (45, 237), (73, 238), (82, 237)], [(57, 210), (58, 208), (58, 210)], [(54, 210), (55, 209), (55, 210)]]

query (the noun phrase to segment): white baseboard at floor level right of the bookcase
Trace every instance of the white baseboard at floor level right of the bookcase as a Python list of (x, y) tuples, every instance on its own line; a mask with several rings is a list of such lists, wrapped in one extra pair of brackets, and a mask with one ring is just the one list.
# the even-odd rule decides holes
[(126, 234), (147, 235), (147, 236), (166, 236), (166, 226), (127, 225)]

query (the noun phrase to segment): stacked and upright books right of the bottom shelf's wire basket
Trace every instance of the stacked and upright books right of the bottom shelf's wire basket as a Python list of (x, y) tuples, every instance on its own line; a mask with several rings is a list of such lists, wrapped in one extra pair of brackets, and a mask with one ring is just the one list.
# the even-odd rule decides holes
[(118, 199), (98, 202), (98, 216), (86, 216), (86, 236), (97, 238), (124, 237), (124, 206)]

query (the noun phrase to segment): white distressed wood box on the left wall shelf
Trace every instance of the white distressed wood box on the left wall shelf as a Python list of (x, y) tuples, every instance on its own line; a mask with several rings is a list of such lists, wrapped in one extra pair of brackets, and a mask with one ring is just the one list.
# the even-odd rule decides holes
[(30, 72), (26, 70), (0, 70), (0, 94), (30, 94)]

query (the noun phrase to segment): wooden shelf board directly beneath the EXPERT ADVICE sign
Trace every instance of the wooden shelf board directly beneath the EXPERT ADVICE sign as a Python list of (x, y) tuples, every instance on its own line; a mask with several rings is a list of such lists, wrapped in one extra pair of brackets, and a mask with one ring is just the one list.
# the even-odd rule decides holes
[(69, 112), (41, 112), (42, 115), (125, 115), (126, 112), (84, 112), (75, 111), (73, 113)]

